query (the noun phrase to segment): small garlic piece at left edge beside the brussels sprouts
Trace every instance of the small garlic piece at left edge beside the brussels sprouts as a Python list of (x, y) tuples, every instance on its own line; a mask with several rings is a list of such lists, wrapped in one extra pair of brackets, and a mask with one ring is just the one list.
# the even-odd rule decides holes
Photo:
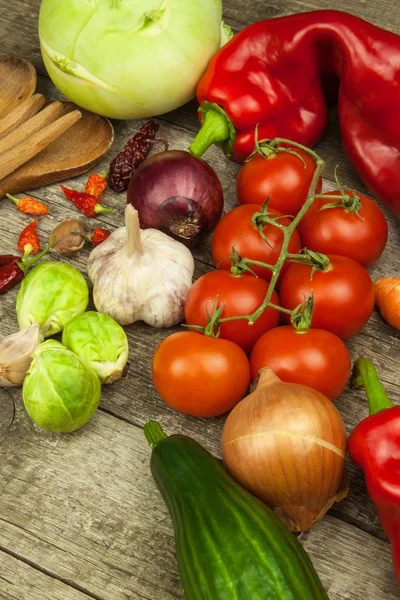
[(0, 387), (23, 384), (33, 351), (40, 341), (37, 323), (3, 338), (0, 342)]

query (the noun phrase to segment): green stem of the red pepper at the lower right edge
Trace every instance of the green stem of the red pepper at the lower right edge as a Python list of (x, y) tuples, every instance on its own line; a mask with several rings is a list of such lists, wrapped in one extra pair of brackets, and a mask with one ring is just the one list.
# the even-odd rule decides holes
[(351, 385), (365, 389), (370, 416), (393, 407), (379, 380), (375, 365), (367, 358), (359, 358), (354, 364)]

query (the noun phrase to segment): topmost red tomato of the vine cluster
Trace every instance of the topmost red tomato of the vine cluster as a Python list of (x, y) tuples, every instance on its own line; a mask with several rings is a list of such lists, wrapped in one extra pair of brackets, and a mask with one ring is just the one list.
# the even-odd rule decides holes
[[(303, 150), (295, 149), (304, 163), (295, 155), (280, 152), (270, 157), (255, 154), (245, 162), (236, 180), (239, 204), (263, 204), (285, 215), (295, 216), (308, 196), (315, 171), (314, 160)], [(322, 179), (316, 193), (320, 194)]]

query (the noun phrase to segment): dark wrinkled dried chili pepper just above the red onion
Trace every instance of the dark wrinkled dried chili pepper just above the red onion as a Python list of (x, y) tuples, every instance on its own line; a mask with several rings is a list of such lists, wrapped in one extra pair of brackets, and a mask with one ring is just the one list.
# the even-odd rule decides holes
[(144, 123), (111, 162), (108, 180), (114, 192), (128, 189), (132, 175), (146, 159), (159, 127), (154, 121)]

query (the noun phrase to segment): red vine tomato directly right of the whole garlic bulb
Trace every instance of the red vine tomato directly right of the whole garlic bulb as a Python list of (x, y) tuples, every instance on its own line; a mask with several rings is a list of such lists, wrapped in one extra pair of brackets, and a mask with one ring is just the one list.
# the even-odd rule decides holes
[[(189, 291), (186, 322), (205, 327), (207, 313), (211, 315), (215, 303), (219, 307), (225, 305), (221, 317), (251, 315), (263, 303), (267, 292), (267, 282), (250, 273), (235, 276), (229, 271), (211, 271), (200, 277)], [(273, 292), (271, 302), (279, 304), (276, 292)], [(260, 335), (278, 325), (279, 316), (277, 310), (267, 308), (253, 325), (245, 320), (222, 323), (220, 337), (250, 352)]]

